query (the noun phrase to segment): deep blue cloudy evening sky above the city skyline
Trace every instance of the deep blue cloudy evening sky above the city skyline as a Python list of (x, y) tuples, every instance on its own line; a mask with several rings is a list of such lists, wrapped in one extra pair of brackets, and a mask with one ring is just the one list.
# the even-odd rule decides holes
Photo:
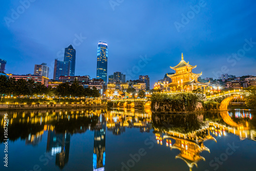
[(256, 1), (30, 1), (27, 8), (16, 0), (0, 7), (6, 73), (33, 74), (45, 62), (52, 78), (54, 59), (63, 60), (63, 48), (72, 44), (75, 74), (95, 78), (98, 42), (105, 41), (108, 75), (148, 75), (151, 88), (173, 72), (182, 52), (202, 78), (256, 75)]

